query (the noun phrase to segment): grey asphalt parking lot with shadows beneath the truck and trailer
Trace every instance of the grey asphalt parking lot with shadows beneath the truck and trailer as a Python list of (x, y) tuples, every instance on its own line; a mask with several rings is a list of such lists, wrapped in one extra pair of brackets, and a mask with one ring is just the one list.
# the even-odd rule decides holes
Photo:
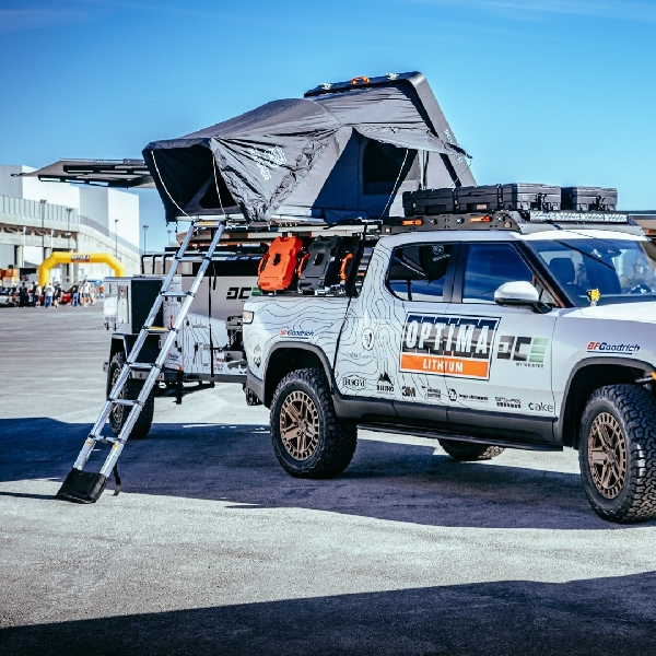
[(599, 519), (574, 452), (361, 432), (342, 476), (298, 480), (219, 384), (157, 398), (120, 495), (74, 505), (102, 307), (3, 309), (0, 339), (1, 654), (656, 652), (656, 523)]

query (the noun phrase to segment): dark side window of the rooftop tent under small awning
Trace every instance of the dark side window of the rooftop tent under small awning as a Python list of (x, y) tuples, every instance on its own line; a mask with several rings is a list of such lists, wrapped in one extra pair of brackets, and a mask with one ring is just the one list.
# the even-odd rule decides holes
[(406, 149), (397, 148), (390, 143), (380, 143), (371, 140), (364, 148), (362, 156), (362, 180), (365, 195), (389, 195), (394, 191), (394, 184), (399, 178), (401, 165), (403, 171), (400, 181), (417, 179), (419, 165), (417, 151), (408, 151), (406, 163)]

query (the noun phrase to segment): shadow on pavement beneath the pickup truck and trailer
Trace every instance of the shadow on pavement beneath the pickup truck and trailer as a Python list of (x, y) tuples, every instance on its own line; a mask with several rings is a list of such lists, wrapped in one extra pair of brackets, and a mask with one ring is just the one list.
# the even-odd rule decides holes
[[(47, 418), (1, 420), (0, 481), (62, 481), (89, 430), (87, 424)], [(94, 453), (89, 469), (97, 471), (105, 455)], [(267, 426), (154, 424), (145, 440), (128, 443), (119, 470), (126, 493), (302, 507), (431, 526), (620, 528), (593, 513), (577, 475), (503, 466), (503, 455), (497, 462), (459, 464), (433, 455), (430, 447), (360, 441), (340, 477), (294, 479), (278, 464)], [(108, 492), (99, 502), (118, 503)], [(239, 505), (234, 508), (238, 512)]]

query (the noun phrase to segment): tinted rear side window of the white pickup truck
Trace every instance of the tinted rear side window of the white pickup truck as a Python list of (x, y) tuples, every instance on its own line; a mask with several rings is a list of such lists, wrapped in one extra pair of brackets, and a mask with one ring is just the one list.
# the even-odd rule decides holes
[(452, 250), (452, 244), (413, 244), (395, 248), (389, 267), (389, 289), (403, 301), (443, 301)]

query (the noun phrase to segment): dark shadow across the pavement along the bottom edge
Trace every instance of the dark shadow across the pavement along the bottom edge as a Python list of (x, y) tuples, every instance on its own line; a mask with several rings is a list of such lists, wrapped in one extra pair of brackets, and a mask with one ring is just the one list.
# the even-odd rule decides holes
[(412, 588), (0, 631), (3, 654), (656, 653), (656, 574)]

